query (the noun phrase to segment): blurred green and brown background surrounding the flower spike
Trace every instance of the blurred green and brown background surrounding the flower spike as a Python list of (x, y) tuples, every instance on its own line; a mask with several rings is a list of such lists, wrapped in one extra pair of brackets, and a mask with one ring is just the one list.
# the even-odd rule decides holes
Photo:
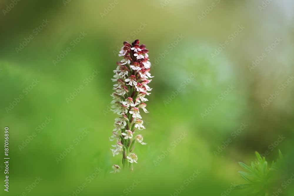
[[(293, 165), (293, 1), (3, 0), (0, 7), (0, 127), (1, 134), (9, 127), (11, 158), (9, 193), (0, 163), (1, 195), (74, 196), (83, 183), (79, 196), (177, 195), (181, 185), (179, 195), (246, 195), (229, 190), (245, 183), (238, 161), (249, 164), (255, 151), (272, 161), (280, 149)], [(141, 131), (148, 145), (136, 146), (134, 172), (110, 174), (121, 163), (109, 150), (117, 117), (109, 112), (112, 71), (122, 42), (135, 39), (149, 49), (155, 76)], [(85, 82), (93, 70), (98, 75)], [(186, 186), (194, 170), (200, 174)], [(42, 180), (29, 188), (36, 177)]]

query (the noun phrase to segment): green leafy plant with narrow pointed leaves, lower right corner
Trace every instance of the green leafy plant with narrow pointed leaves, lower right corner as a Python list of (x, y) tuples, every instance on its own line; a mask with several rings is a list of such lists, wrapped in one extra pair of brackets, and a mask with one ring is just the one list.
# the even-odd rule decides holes
[(271, 165), (261, 157), (258, 152), (255, 152), (257, 161), (251, 162), (251, 167), (245, 163), (239, 162), (247, 172), (238, 171), (240, 176), (248, 183), (237, 185), (234, 190), (247, 189), (248, 196), (265, 196), (267, 193), (273, 192), (280, 185), (280, 181), (287, 176), (288, 168), (281, 151), (279, 150), (279, 158), (273, 161)]

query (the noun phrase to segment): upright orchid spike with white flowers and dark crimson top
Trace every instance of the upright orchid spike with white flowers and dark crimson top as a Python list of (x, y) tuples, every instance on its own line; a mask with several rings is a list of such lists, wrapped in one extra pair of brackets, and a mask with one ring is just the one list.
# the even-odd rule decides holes
[[(146, 145), (141, 134), (137, 135), (136, 129), (145, 129), (143, 120), (140, 115), (140, 110), (145, 113), (146, 103), (148, 101), (145, 96), (151, 91), (147, 84), (151, 81), (153, 76), (149, 73), (151, 63), (148, 58), (148, 50), (144, 44), (139, 45), (139, 40), (135, 40), (132, 44), (127, 41), (123, 42), (123, 47), (118, 56), (122, 57), (120, 61), (116, 62), (118, 65), (114, 70), (114, 78), (111, 79), (115, 84), (113, 85), (114, 93), (111, 94), (113, 100), (111, 101), (112, 111), (119, 115), (115, 118), (114, 129), (110, 141), (115, 140), (116, 145), (111, 149), (113, 156), (122, 155), (123, 169), (133, 170), (133, 163), (137, 163), (138, 157), (135, 153), (131, 153), (134, 149), (135, 142)], [(140, 109), (141, 108), (141, 109)], [(113, 165), (111, 173), (120, 172), (119, 165)]]

